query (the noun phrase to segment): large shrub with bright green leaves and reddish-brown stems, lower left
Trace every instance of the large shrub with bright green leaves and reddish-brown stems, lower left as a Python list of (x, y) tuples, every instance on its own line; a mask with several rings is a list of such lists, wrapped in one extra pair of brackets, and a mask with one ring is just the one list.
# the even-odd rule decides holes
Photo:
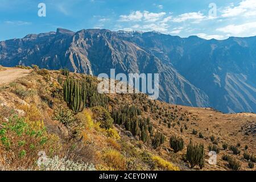
[(8, 156), (8, 162), (15, 167), (34, 168), (38, 160), (38, 151), (45, 151), (48, 156), (59, 154), (61, 143), (59, 137), (48, 134), (43, 121), (11, 117), (1, 123), (1, 155)]

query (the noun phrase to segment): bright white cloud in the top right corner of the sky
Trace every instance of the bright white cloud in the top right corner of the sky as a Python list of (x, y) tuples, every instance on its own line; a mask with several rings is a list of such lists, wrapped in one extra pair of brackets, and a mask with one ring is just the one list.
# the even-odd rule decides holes
[(243, 0), (238, 4), (238, 6), (234, 6), (233, 3), (225, 7), (222, 10), (222, 17), (233, 17), (233, 16), (254, 16), (256, 15), (256, 0)]

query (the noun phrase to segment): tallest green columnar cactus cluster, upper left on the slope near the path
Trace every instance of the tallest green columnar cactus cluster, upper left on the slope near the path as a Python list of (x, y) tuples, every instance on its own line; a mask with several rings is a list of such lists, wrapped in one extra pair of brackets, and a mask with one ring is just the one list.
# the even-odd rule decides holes
[(63, 98), (75, 113), (79, 113), (84, 107), (106, 108), (108, 105), (108, 97), (99, 94), (96, 85), (69, 77), (63, 83)]

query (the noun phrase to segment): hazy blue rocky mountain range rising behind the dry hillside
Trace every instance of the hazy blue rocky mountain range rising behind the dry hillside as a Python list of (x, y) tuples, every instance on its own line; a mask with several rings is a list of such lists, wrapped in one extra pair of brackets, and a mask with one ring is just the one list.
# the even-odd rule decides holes
[(205, 40), (158, 32), (58, 28), (0, 42), (0, 64), (98, 75), (159, 73), (160, 100), (256, 113), (256, 37)]

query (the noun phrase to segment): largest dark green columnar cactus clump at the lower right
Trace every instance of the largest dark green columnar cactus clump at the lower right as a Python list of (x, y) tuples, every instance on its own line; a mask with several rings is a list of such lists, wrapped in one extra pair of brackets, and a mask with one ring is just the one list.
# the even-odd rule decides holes
[(204, 166), (204, 144), (193, 145), (192, 141), (189, 142), (187, 147), (186, 159), (191, 165), (191, 168), (199, 165), (200, 168)]

